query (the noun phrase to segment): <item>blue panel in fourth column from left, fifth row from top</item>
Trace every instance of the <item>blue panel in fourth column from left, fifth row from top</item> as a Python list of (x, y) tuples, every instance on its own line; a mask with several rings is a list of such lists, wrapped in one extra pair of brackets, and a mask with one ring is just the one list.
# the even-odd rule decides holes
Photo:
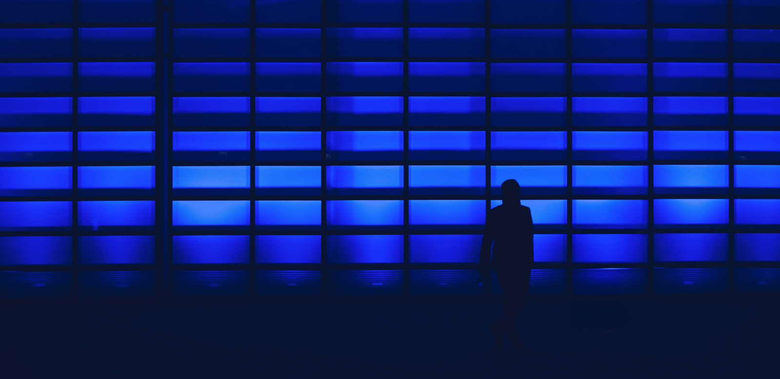
[(319, 161), (320, 132), (256, 132), (254, 157), (258, 161)]

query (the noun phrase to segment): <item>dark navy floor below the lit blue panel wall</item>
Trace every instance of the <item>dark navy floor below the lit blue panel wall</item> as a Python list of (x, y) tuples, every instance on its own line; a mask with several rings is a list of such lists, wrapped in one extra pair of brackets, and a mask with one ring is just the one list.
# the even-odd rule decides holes
[(6, 304), (0, 377), (780, 377), (778, 301), (535, 301), (504, 353), (500, 309)]

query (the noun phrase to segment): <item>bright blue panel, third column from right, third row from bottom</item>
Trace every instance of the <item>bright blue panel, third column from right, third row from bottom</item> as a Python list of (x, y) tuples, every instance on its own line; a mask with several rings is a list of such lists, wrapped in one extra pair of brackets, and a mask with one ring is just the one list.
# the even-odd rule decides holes
[(572, 202), (573, 228), (647, 228), (647, 200), (572, 200)]

